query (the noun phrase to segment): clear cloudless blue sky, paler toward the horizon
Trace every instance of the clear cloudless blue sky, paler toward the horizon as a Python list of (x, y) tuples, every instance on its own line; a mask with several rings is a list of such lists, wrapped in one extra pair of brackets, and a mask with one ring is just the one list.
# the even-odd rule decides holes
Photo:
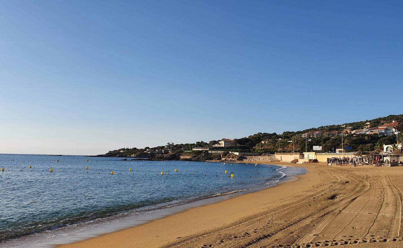
[(402, 114), (401, 1), (0, 1), (0, 153)]

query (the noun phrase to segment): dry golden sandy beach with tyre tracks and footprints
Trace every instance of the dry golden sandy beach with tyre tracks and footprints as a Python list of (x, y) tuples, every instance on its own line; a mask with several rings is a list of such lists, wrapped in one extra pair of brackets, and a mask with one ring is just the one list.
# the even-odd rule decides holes
[(296, 166), (310, 173), (266, 190), (57, 247), (403, 247), (402, 168)]

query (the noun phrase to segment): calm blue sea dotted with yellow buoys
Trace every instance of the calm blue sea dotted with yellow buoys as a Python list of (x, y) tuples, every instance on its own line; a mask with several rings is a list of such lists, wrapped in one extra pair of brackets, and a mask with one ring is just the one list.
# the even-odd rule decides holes
[(150, 211), (266, 188), (287, 170), (250, 163), (121, 159), (0, 154), (5, 169), (0, 171), (0, 242), (129, 210)]

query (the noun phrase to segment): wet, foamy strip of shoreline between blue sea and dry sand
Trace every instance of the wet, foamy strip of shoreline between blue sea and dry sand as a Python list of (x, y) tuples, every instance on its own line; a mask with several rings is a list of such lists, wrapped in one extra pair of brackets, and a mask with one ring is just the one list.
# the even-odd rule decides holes
[[(209, 162), (220, 163), (221, 161), (209, 161)], [(252, 164), (254, 162), (239, 161), (238, 163)], [(274, 163), (268, 163), (267, 161), (262, 161), (258, 164), (275, 165)], [(216, 195), (205, 196), (197, 200), (187, 201), (161, 208), (155, 208), (153, 210), (147, 210), (145, 212), (130, 210), (127, 212), (110, 215), (108, 217), (103, 217), (100, 219), (94, 219), (91, 221), (76, 223), (73, 225), (67, 225), (54, 230), (50, 229), (49, 231), (42, 231), (39, 233), (35, 233), (34, 235), (26, 235), (16, 239), (4, 240), (4, 242), (0, 243), (0, 247), (20, 248), (25, 247), (24, 244), (29, 244), (31, 247), (51, 248), (58, 246), (58, 244), (74, 244), (75, 242), (80, 242), (83, 240), (88, 240), (91, 238), (106, 235), (108, 233), (114, 233), (116, 231), (143, 225), (147, 222), (156, 219), (161, 219), (169, 215), (174, 215), (190, 208), (205, 206), (208, 204), (214, 204), (237, 196), (241, 196), (243, 194), (251, 194), (253, 192), (273, 188), (281, 183), (297, 180), (298, 178), (296, 178), (295, 175), (303, 175), (304, 173), (307, 173), (307, 171), (301, 171), (295, 169), (294, 170), (291, 169), (291, 171), (287, 170), (287, 168), (290, 169), (290, 167), (293, 167), (290, 166), (288, 163), (287, 164), (279, 163), (276, 166), (279, 167), (278, 169), (276, 169), (279, 173), (282, 173), (280, 172), (281, 170), (285, 170), (287, 175), (285, 175), (285, 173), (282, 173), (284, 174), (284, 176), (280, 176), (277, 180), (274, 180), (271, 183), (269, 183), (270, 182), (269, 181), (266, 186), (261, 188), (246, 188), (245, 190), (239, 190), (234, 192), (222, 192)]]

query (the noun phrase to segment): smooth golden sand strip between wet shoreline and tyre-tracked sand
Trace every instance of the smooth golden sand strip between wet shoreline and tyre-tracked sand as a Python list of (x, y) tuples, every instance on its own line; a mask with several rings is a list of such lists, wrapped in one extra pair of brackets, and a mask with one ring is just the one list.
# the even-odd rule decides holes
[[(207, 162), (218, 162), (218, 161), (214, 160), (214, 161), (207, 161)], [(239, 162), (235, 162), (235, 163), (258, 163), (258, 162), (239, 161)], [(286, 177), (280, 179), (275, 185), (268, 186), (267, 188), (256, 189), (256, 190), (246, 190), (246, 191), (242, 191), (242, 192), (236, 192), (233, 194), (224, 194), (224, 195), (220, 195), (220, 196), (216, 196), (216, 197), (197, 200), (196, 202), (183, 204), (181, 206), (176, 206), (176, 207), (179, 207), (179, 209), (178, 209), (179, 211), (170, 213), (170, 214), (168, 213), (167, 215), (162, 215), (157, 219), (148, 219), (147, 222), (141, 223), (139, 225), (135, 225), (132, 227), (126, 227), (125, 229), (112, 231), (112, 232), (109, 232), (106, 234), (102, 234), (98, 237), (92, 237), (92, 238), (81, 240), (81, 241), (74, 242), (71, 244), (59, 244), (56, 247), (57, 248), (112, 247), (112, 246), (113, 247), (133, 247), (133, 245), (135, 245), (134, 247), (160, 246), (160, 245), (167, 243), (168, 240), (170, 240), (170, 241), (177, 240), (177, 237), (174, 237), (172, 239), (168, 238), (168, 236), (172, 236), (172, 234), (166, 233), (167, 230), (165, 230), (165, 231), (162, 230), (166, 226), (174, 225), (173, 223), (172, 224), (169, 223), (171, 221), (177, 222), (176, 220), (179, 219), (179, 220), (181, 220), (180, 221), (181, 223), (177, 223), (176, 225), (186, 226), (186, 224), (189, 225), (189, 221), (187, 221), (188, 219), (194, 219), (195, 221), (197, 221), (197, 219), (198, 219), (200, 221), (199, 217), (197, 217), (197, 216), (210, 215), (210, 218), (214, 216), (213, 219), (215, 219), (215, 217), (220, 215), (221, 216), (220, 224), (225, 224), (227, 222), (227, 220), (232, 220), (232, 219), (231, 218), (227, 219), (227, 218), (222, 217), (222, 216), (226, 215), (226, 213), (222, 212), (222, 208), (225, 208), (226, 206), (222, 206), (222, 205), (228, 205), (228, 204), (231, 205), (231, 204), (233, 204), (232, 201), (234, 201), (234, 202), (242, 201), (243, 202), (244, 199), (242, 199), (242, 198), (253, 198), (254, 204), (260, 203), (259, 200), (256, 198), (259, 196), (253, 195), (253, 194), (259, 195), (259, 193), (262, 193), (264, 195), (268, 194), (270, 196), (277, 196), (276, 198), (278, 198), (279, 196), (283, 196), (285, 194), (285, 191), (287, 191), (288, 193), (293, 192), (293, 191), (290, 191), (291, 188), (300, 189), (300, 187), (294, 187), (294, 185), (292, 185), (292, 186), (286, 186), (286, 187), (283, 186), (282, 187), (282, 188), (285, 188), (286, 190), (283, 190), (282, 188), (280, 188), (280, 190), (277, 190), (277, 188), (280, 187), (280, 185), (291, 185), (294, 182), (301, 181), (301, 178), (305, 178), (304, 176), (309, 175), (311, 172), (311, 170), (308, 169), (306, 166), (298, 166), (298, 165), (291, 166), (289, 163), (285, 163), (285, 162), (262, 161), (258, 164), (278, 165), (278, 166), (286, 166), (286, 167), (303, 167), (307, 170), (307, 173), (299, 174), (299, 175), (295, 175), (295, 176), (287, 175)], [(310, 177), (307, 177), (307, 178), (310, 178)], [(307, 180), (307, 181), (312, 181), (312, 180)], [(291, 182), (293, 182), (293, 183), (291, 183)], [(300, 184), (302, 185), (303, 183), (300, 183)], [(250, 195), (253, 195), (253, 196), (250, 196)], [(225, 197), (225, 198), (220, 199), (222, 197)], [(238, 199), (238, 198), (241, 198), (241, 199)], [(189, 204), (190, 205), (194, 204), (194, 206), (186, 206)], [(254, 208), (255, 206), (252, 206), (252, 205), (249, 205), (248, 207)], [(211, 208), (213, 208), (214, 210), (212, 210)], [(221, 208), (221, 211), (217, 212), (218, 208)], [(239, 215), (239, 213), (237, 213), (237, 212), (239, 212), (239, 210), (241, 210), (241, 208), (237, 207), (236, 209), (234, 209), (232, 211), (233, 213), (231, 215), (235, 215), (235, 216)], [(247, 213), (249, 213), (249, 211), (250, 211), (250, 209), (247, 210)], [(195, 214), (193, 212), (197, 212), (197, 214)], [(215, 213), (215, 214), (212, 215), (212, 213)], [(189, 215), (190, 215), (190, 218), (189, 218)], [(168, 221), (168, 223), (166, 223), (166, 221)], [(208, 223), (211, 223), (211, 224), (214, 223), (214, 225), (218, 224), (218, 223), (216, 223), (216, 221), (202, 220), (201, 222), (202, 222), (202, 226), (204, 226), (204, 227), (209, 227), (210, 225)], [(182, 233), (179, 236), (183, 236), (183, 231), (185, 231), (185, 230), (197, 231), (198, 229), (199, 228), (194, 229), (194, 228), (191, 228), (190, 226), (188, 226), (187, 228), (184, 228), (181, 232), (178, 232), (178, 235), (179, 235), (179, 233)], [(160, 233), (160, 235), (155, 235), (155, 237), (153, 237), (154, 232), (158, 232), (158, 233), (162, 232), (162, 233)], [(139, 233), (142, 233), (142, 234), (140, 235)], [(122, 235), (128, 236), (128, 237), (137, 236), (137, 238), (131, 238), (132, 242), (130, 242), (130, 241), (116, 242), (116, 238), (118, 238), (119, 240), (121, 238), (123, 238)], [(114, 242), (108, 243), (108, 242), (105, 242), (105, 240), (114, 240)], [(133, 243), (133, 241), (135, 243)]]

